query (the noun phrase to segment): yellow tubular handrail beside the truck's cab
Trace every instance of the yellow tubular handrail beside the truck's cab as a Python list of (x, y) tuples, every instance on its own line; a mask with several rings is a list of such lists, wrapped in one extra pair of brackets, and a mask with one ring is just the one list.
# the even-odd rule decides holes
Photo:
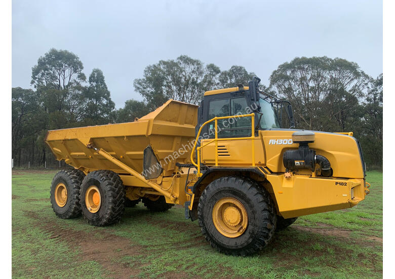
[[(245, 137), (226, 137), (226, 138), (218, 138), (218, 120), (219, 119), (229, 119), (229, 118), (241, 118), (241, 117), (251, 117), (251, 136), (245, 136)], [(213, 122), (215, 123), (215, 138), (213, 138), (213, 140), (211, 140), (208, 143), (205, 143), (203, 146), (198, 147), (196, 149), (196, 145), (198, 143), (198, 139), (200, 137), (200, 133), (202, 132), (202, 128), (210, 123)], [(219, 141), (239, 141), (239, 140), (253, 140), (255, 138), (255, 114), (251, 113), (251, 114), (242, 114), (242, 115), (231, 115), (231, 116), (221, 116), (221, 117), (214, 117), (208, 121), (206, 121), (205, 123), (203, 123), (203, 125), (199, 128), (199, 132), (198, 135), (196, 135), (196, 139), (195, 142), (193, 143), (193, 148), (192, 148), (192, 152), (190, 154), (190, 159), (191, 162), (194, 166), (198, 167), (198, 173), (197, 176), (201, 177), (202, 173), (200, 172), (200, 150), (202, 148), (204, 148), (205, 146), (211, 144), (212, 142), (215, 142), (215, 165), (218, 166), (218, 142)], [(193, 154), (195, 149), (198, 151), (198, 162), (195, 163), (195, 161), (193, 160)], [(255, 146), (254, 146), (254, 141), (251, 141), (251, 150), (252, 150), (252, 165), (255, 166)]]

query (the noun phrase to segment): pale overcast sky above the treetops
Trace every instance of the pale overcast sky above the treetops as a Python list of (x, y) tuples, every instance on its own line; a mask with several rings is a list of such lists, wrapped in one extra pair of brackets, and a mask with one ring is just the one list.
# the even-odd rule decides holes
[(221, 70), (245, 66), (268, 85), (297, 56), (341, 57), (382, 73), (380, 1), (12, 1), (12, 86), (50, 48), (73, 52), (105, 76), (116, 107), (142, 97), (145, 66), (181, 54)]

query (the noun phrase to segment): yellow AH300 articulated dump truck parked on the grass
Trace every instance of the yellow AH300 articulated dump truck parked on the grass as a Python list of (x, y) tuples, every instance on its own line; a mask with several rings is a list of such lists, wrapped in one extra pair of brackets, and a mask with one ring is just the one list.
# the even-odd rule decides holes
[(59, 171), (51, 203), (63, 219), (119, 222), (125, 207), (185, 206), (218, 251), (250, 255), (298, 216), (349, 208), (369, 193), (349, 133), (297, 130), (291, 104), (249, 86), (208, 91), (200, 106), (169, 100), (130, 123), (52, 130)]

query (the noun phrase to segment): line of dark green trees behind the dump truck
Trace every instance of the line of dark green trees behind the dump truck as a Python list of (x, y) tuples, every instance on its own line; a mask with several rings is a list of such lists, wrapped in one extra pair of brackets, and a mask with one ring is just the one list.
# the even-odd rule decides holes
[[(12, 157), (16, 166), (54, 161), (44, 143), (48, 130), (130, 122), (176, 99), (198, 104), (208, 90), (248, 84), (255, 73), (233, 65), (181, 55), (145, 67), (133, 86), (142, 101), (130, 99), (115, 109), (103, 72), (87, 79), (84, 65), (67, 50), (51, 49), (32, 67), (32, 89), (12, 88)], [(366, 163), (382, 167), (382, 74), (372, 78), (357, 63), (340, 58), (296, 57), (274, 69), (261, 89), (292, 103), (296, 128), (353, 131)]]

